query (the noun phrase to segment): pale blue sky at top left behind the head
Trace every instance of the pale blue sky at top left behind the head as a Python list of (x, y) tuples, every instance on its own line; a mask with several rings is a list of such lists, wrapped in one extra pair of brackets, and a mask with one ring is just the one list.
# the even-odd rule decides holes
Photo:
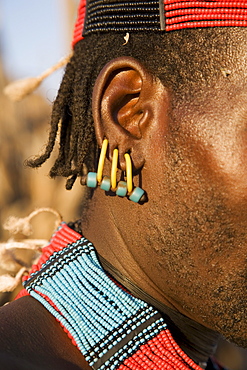
[[(0, 52), (10, 80), (36, 76), (70, 51), (68, 2), (78, 0), (0, 0)], [(76, 15), (76, 14), (75, 14)], [(75, 17), (74, 15), (74, 17)], [(42, 84), (53, 100), (62, 71)]]

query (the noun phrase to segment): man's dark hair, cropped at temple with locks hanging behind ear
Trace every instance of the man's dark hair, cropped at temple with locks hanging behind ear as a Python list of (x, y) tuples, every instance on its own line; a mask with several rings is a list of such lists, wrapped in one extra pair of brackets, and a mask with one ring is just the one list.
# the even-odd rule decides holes
[[(67, 65), (54, 102), (48, 143), (43, 154), (30, 159), (31, 167), (41, 166), (51, 155), (57, 136), (59, 153), (50, 176), (67, 178), (71, 189), (83, 166), (95, 170), (98, 153), (92, 119), (92, 90), (95, 80), (111, 59), (136, 58), (179, 100), (199, 97), (204, 87), (213, 86), (237, 28), (181, 30), (170, 33), (131, 33), (124, 43), (123, 33), (93, 34), (78, 42)], [(221, 76), (222, 77), (222, 76)], [(183, 103), (182, 103), (183, 104)]]

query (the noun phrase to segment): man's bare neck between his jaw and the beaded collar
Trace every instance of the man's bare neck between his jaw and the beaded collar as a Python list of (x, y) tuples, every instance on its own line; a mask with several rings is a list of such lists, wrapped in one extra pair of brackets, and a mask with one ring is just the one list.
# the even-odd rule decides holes
[[(136, 256), (133, 256), (134, 251), (138, 258), (144, 258), (143, 250), (140, 248), (145, 245), (143, 234), (138, 234), (138, 237), (131, 234), (133, 230), (137, 229), (135, 227), (136, 220), (139, 220), (140, 223), (145, 222), (143, 218), (141, 219), (142, 215), (136, 215), (132, 210), (125, 209), (127, 202), (123, 202), (119, 213), (114, 209), (114, 202), (118, 202), (118, 199), (111, 199), (111, 207), (109, 207), (107, 197), (102, 194), (102, 192), (98, 192), (97, 197), (94, 196), (86, 217), (82, 218), (83, 235), (94, 244), (98, 253), (104, 257), (101, 262), (106, 271), (134, 296), (146, 301), (163, 313), (177, 344), (203, 368), (203, 363), (206, 363), (215, 352), (219, 334), (180, 313), (182, 307), (179, 306), (180, 309), (178, 309), (173, 304), (174, 302), (170, 302), (164, 297), (163, 292), (154, 283), (154, 279), (150, 279), (146, 275), (145, 271), (140, 268)], [(121, 219), (124, 217), (121, 215), (128, 215), (128, 219)], [(126, 233), (117, 225), (124, 225), (124, 230), (129, 232)], [(144, 225), (144, 227), (146, 226)], [(135, 240), (137, 243), (134, 245)], [(131, 248), (128, 247), (130, 244)], [(121, 258), (119, 258), (120, 256)], [(149, 256), (148, 260), (152, 261), (152, 256)]]

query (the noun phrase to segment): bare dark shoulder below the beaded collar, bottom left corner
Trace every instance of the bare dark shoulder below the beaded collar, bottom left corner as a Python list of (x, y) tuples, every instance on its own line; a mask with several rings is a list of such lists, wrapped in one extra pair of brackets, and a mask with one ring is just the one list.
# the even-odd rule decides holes
[(4, 370), (91, 369), (60, 324), (32, 297), (1, 308), (0, 343)]

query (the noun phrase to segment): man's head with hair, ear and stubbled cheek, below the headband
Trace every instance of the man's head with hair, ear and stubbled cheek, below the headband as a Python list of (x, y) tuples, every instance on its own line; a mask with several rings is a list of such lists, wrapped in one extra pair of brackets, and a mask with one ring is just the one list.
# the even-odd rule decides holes
[(75, 45), (33, 165), (52, 151), (60, 119), (51, 175), (68, 187), (83, 164), (95, 170), (104, 137), (106, 168), (114, 148), (123, 171), (130, 153), (147, 202), (109, 196), (102, 207), (167, 302), (247, 346), (247, 29), (124, 36), (96, 32)]

